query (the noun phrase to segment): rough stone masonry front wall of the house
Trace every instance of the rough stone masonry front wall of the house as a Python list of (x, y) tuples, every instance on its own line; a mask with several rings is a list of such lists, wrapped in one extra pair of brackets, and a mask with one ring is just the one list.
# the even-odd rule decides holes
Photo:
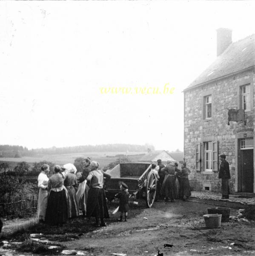
[[(221, 180), (218, 179), (217, 171), (204, 172), (204, 166), (201, 172), (196, 170), (196, 144), (218, 141), (218, 155), (226, 154), (229, 162), (230, 193), (238, 192), (238, 138), (253, 137), (255, 126), (254, 73), (254, 68), (251, 68), (184, 91), (184, 157), (191, 170), (189, 180), (194, 190), (202, 191), (206, 187), (206, 190), (221, 192)], [(252, 110), (246, 112), (246, 125), (244, 122), (230, 122), (228, 125), (228, 109), (240, 108), (240, 86), (245, 84), (251, 85), (252, 99)], [(209, 121), (203, 118), (203, 99), (207, 95), (212, 95), (212, 119)]]

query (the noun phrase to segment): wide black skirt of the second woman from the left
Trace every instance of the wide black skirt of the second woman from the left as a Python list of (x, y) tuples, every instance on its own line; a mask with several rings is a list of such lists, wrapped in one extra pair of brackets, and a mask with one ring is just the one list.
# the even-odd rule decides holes
[(68, 220), (66, 191), (50, 191), (45, 215), (45, 223), (49, 225), (63, 224)]

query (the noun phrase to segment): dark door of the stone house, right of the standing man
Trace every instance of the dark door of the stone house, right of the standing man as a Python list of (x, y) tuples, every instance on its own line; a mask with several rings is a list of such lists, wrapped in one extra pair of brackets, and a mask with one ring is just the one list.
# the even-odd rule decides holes
[(253, 149), (241, 150), (241, 192), (253, 193)]

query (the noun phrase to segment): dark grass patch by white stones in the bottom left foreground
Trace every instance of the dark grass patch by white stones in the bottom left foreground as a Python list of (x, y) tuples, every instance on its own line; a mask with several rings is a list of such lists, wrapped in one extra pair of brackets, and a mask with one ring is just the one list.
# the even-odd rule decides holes
[(22, 244), (18, 245), (16, 250), (22, 253), (36, 253), (40, 255), (56, 255), (66, 247), (61, 244), (50, 244), (50, 246), (57, 246), (57, 248), (49, 249), (49, 244), (37, 243), (31, 240), (26, 240)]

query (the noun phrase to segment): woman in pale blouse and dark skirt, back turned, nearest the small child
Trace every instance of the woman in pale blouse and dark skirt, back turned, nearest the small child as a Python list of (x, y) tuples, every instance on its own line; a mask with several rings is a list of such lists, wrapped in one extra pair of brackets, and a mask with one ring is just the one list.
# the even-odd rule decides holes
[(95, 217), (95, 226), (99, 227), (99, 218), (101, 226), (105, 227), (104, 218), (109, 218), (108, 207), (106, 204), (106, 195), (103, 189), (103, 178), (111, 178), (107, 172), (98, 169), (99, 164), (96, 161), (90, 163), (90, 172), (87, 177), (89, 183), (89, 193), (87, 201), (87, 217)]

